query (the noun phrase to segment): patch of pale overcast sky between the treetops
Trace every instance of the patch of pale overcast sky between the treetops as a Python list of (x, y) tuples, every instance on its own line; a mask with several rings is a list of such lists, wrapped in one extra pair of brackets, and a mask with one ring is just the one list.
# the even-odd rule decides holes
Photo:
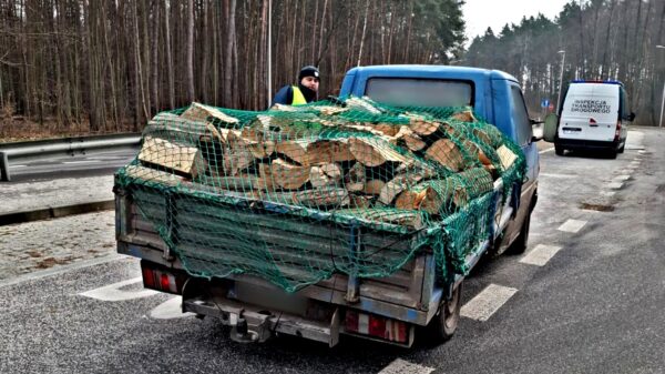
[(553, 20), (570, 0), (464, 0), (462, 7), (467, 22), (467, 38), (470, 44), (473, 38), (484, 34), (488, 27), (495, 34), (505, 23), (520, 23), (522, 17), (543, 13)]

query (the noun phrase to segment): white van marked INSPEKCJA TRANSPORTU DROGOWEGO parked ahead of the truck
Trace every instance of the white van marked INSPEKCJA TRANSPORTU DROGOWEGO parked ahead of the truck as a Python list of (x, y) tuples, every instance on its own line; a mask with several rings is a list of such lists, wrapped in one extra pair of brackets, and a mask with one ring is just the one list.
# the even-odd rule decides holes
[(618, 81), (572, 81), (563, 101), (554, 151), (601, 150), (611, 158), (626, 144), (627, 124), (635, 114)]

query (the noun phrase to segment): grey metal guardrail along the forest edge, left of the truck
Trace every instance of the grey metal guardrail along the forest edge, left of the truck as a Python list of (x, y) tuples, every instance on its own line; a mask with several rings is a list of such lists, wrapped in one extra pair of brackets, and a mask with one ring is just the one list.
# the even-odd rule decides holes
[(89, 150), (113, 149), (139, 145), (141, 135), (136, 133), (62, 138), (0, 144), (0, 181), (10, 181), (9, 162), (21, 159), (39, 159), (52, 154), (85, 153)]

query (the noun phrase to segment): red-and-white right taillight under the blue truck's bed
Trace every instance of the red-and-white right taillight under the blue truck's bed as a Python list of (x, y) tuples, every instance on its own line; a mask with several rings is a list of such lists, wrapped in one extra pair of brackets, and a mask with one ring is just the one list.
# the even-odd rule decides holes
[(345, 328), (351, 333), (391, 342), (406, 343), (409, 338), (409, 328), (406, 322), (355, 311), (346, 312)]

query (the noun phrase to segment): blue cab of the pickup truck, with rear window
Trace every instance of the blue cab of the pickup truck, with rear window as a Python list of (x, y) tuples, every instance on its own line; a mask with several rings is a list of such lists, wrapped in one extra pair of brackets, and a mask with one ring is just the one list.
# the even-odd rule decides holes
[[(499, 70), (447, 65), (374, 65), (347, 72), (340, 97), (369, 97), (396, 107), (472, 107), (475, 114), (494, 124), (520, 145), (528, 172), (521, 193), (513, 195), (515, 218), (494, 249), (526, 249), (531, 211), (538, 200), (539, 153), (522, 90), (518, 80)], [(511, 246), (512, 245), (512, 246)]]

